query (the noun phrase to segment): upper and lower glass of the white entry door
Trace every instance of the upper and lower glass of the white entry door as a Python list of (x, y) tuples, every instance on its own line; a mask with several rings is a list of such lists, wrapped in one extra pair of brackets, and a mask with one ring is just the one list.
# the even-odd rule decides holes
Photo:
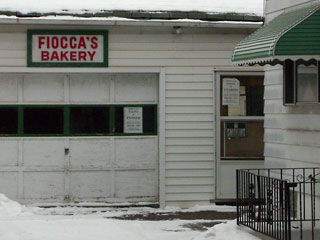
[(221, 159), (263, 159), (263, 76), (224, 76), (220, 86)]

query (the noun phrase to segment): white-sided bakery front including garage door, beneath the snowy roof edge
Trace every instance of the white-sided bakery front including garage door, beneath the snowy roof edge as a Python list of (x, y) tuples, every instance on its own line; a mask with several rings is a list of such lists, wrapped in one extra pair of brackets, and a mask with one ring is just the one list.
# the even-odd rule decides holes
[[(263, 75), (261, 69), (247, 73), (231, 67), (235, 45), (258, 27), (251, 22), (0, 19), (0, 122), (6, 126), (0, 137), (0, 191), (25, 203), (189, 207), (232, 198), (217, 197), (225, 180), (234, 185), (239, 162), (221, 173), (216, 79)], [(30, 30), (44, 38), (32, 40)], [(58, 61), (57, 56), (35, 56), (33, 48), (49, 47), (48, 36), (60, 36), (63, 50), (73, 34), (89, 39), (101, 32), (107, 39), (103, 66), (41, 65)], [(80, 53), (69, 60), (75, 56), (84, 61)]]

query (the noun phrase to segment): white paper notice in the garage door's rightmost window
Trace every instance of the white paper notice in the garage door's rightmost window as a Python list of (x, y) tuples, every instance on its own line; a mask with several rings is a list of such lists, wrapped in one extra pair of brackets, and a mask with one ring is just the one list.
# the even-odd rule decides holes
[(142, 107), (124, 108), (124, 133), (143, 133)]

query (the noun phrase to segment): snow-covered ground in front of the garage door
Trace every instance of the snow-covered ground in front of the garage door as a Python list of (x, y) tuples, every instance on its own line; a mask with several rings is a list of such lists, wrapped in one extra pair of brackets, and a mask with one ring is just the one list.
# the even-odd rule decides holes
[[(234, 220), (171, 219), (130, 220), (130, 216), (192, 215), (218, 211), (219, 216), (233, 207), (205, 206), (191, 209), (25, 207), (0, 194), (1, 240), (257, 240)], [(186, 214), (187, 213), (187, 214)], [(116, 219), (118, 218), (118, 219)], [(121, 219), (120, 219), (121, 218)], [(201, 232), (187, 227), (205, 222), (223, 222)]]

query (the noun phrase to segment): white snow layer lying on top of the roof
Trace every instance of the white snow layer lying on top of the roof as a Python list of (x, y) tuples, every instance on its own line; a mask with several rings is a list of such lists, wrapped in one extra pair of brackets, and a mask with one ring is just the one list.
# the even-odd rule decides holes
[(85, 14), (107, 11), (205, 12), (263, 15), (263, 0), (1, 0), (0, 11)]

